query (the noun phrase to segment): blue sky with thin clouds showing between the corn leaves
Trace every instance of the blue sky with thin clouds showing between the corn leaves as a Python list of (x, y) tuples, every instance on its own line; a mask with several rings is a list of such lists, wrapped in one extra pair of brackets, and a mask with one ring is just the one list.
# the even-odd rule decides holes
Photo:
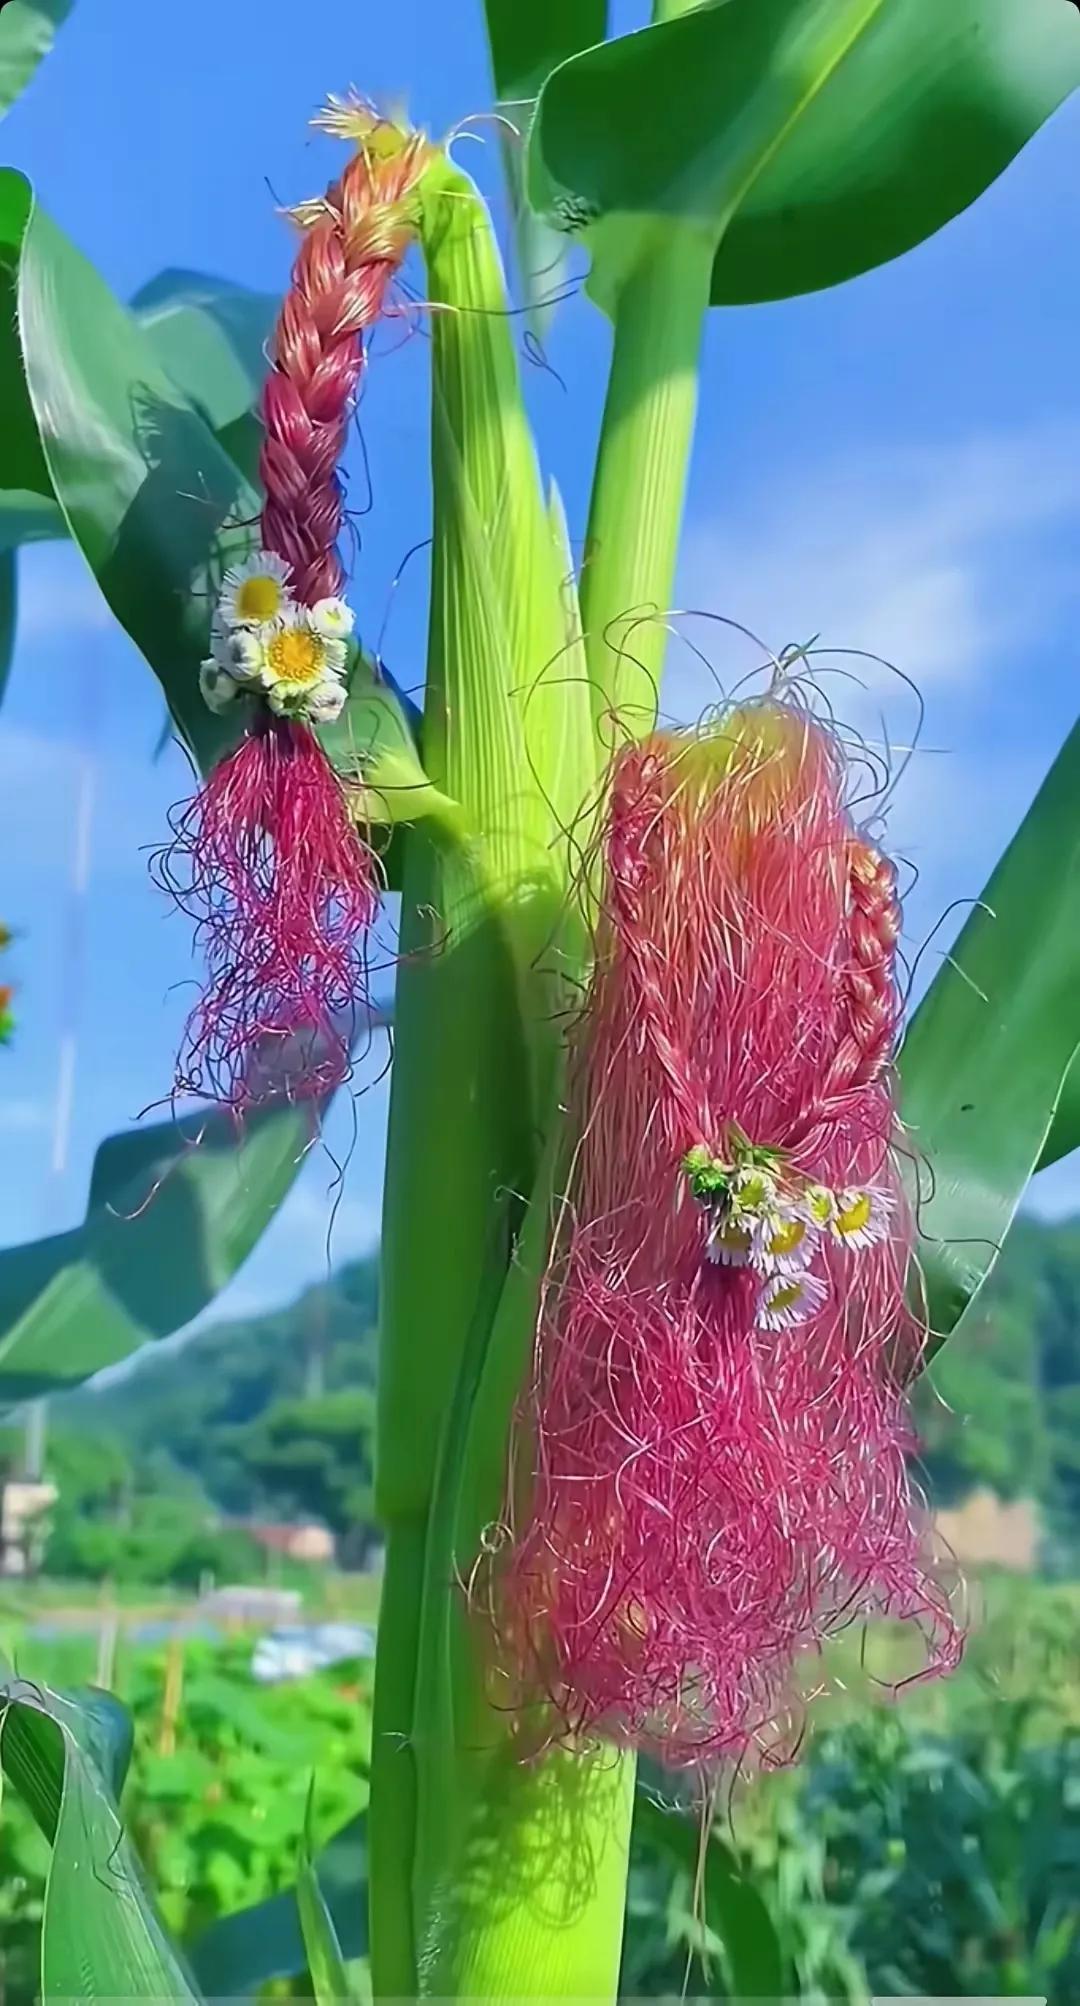
[[(408, 96), (436, 132), (486, 108), (480, 6), (454, 8), (452, 30), (446, 16), (436, 0), (299, 12), (279, 0), (169, 12), (82, 0), (4, 122), (0, 152), (124, 297), (167, 265), (281, 289), (289, 233), (275, 201), (333, 173), (333, 144), (307, 130), (327, 90)], [(644, 16), (644, 0), (616, 8), (620, 26)], [(731, 616), (773, 648), (821, 634), (873, 650), (917, 682), (923, 750), (893, 816), (893, 845), (921, 873), (909, 951), (952, 901), (978, 897), (1076, 712), (1078, 140), (1074, 102), (933, 243), (829, 295), (713, 315), (707, 333), (679, 604)], [(468, 164), (498, 191), (494, 144)], [(550, 335), (558, 377), (530, 371), (544, 459), (578, 536), (606, 349), (602, 319), (578, 299)], [(385, 652), (403, 682), (420, 680), (424, 660), (424, 562), (393, 590), (430, 520), (424, 375), (422, 337), (389, 345), (369, 371), (373, 508), (351, 584), (367, 638), (389, 612)], [(82, 1216), (96, 1141), (167, 1091), (193, 975), (187, 925), (145, 861), (187, 790), (179, 754), (151, 756), (157, 684), (72, 550), (24, 554), (20, 596), (0, 714), (0, 915), (22, 933), (8, 957), (20, 1029), (0, 1099), (6, 1242)], [(751, 666), (719, 628), (693, 632), (721, 680)], [(674, 650), (666, 706), (693, 716), (711, 694)], [(867, 734), (883, 712), (889, 738), (907, 742), (913, 706), (897, 680), (871, 678), (845, 708)], [(78, 903), (72, 859), (86, 826)], [(359, 1101), (337, 1262), (375, 1236), (383, 1123), (375, 1087)], [(331, 1145), (347, 1125), (341, 1109)], [(315, 1153), (221, 1314), (287, 1300), (325, 1272), (331, 1180)], [(1080, 1208), (1076, 1163), (1040, 1180), (1034, 1202)]]

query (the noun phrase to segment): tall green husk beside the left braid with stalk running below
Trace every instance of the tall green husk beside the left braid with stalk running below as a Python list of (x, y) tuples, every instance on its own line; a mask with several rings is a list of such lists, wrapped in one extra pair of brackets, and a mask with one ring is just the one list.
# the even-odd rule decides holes
[(399, 2000), (418, 1990), (418, 1805), (440, 1757), (416, 1701), (432, 1488), (466, 1344), (486, 1334), (510, 1262), (512, 1194), (536, 1174), (538, 1095), (558, 1047), (538, 963), (562, 907), (552, 808), (526, 748), (530, 686), (564, 644), (560, 570), (498, 247), (448, 160), (426, 181), (422, 243), (434, 355), (424, 758), (460, 824), (430, 818), (406, 837), (383, 1204), (371, 1984)]

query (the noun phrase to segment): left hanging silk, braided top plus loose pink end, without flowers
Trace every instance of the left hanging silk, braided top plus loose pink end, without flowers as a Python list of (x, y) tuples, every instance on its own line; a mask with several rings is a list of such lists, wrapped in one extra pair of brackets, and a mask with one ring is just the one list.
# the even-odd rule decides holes
[[(319, 203), (271, 339), (263, 391), (263, 548), (301, 604), (343, 584), (339, 459), (363, 369), (412, 241), (408, 197), (426, 144), (359, 146)], [(197, 921), (207, 983), (177, 1091), (243, 1113), (271, 1095), (321, 1097), (349, 1073), (367, 1013), (365, 941), (379, 867), (341, 782), (301, 722), (261, 714), (175, 820), (161, 877)], [(275, 1063), (275, 1051), (287, 1053)]]

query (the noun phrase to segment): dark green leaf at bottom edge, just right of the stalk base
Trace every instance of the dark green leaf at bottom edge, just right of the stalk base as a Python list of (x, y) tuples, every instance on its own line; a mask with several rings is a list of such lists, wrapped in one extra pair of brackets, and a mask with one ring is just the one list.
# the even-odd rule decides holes
[(681, 1811), (664, 1811), (638, 1789), (634, 1844), (670, 1860), (699, 1890), (699, 1922), (723, 1944), (723, 1998), (783, 2000), (795, 1994), (773, 1918), (717, 1831), (703, 1846), (699, 1825)]

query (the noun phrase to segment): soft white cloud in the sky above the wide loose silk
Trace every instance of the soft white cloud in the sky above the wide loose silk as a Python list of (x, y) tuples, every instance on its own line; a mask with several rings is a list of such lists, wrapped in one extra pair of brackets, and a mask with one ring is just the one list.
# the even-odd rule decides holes
[[(964, 686), (1080, 602), (1078, 526), (1076, 421), (865, 449), (781, 469), (693, 528), (681, 602), (745, 622), (773, 650), (817, 634), (895, 662), (919, 688)], [(721, 682), (755, 666), (715, 628), (695, 640)], [(715, 690), (677, 650), (664, 696), (683, 714)]]

